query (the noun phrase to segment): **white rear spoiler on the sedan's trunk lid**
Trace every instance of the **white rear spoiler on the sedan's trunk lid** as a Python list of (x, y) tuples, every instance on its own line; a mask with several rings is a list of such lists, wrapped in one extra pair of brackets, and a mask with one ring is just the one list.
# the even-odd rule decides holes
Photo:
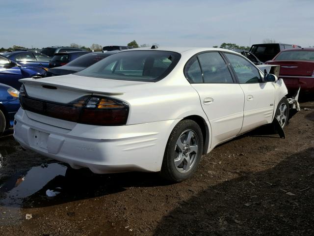
[(102, 95), (122, 95), (124, 94), (124, 92), (122, 91), (116, 91), (116, 90), (111, 90), (110, 89), (106, 89), (107, 91), (102, 91), (102, 89), (99, 90), (94, 90), (94, 89), (88, 89), (86, 87), (73, 87), (73, 85), (69, 85), (66, 83), (62, 83), (60, 81), (58, 81), (58, 84), (54, 84), (54, 83), (49, 83), (47, 81), (39, 81), (33, 78), (26, 78), (26, 79), (20, 79), (19, 82), (23, 83), (23, 84), (33, 84), (33, 85), (37, 85), (37, 86), (43, 86), (43, 85), (48, 85), (51, 87), (56, 87), (56, 88), (62, 88), (62, 89), (68, 89), (68, 90), (75, 90), (75, 91), (83, 91), (83, 92), (87, 92), (87, 93), (93, 93), (93, 94), (102, 94)]

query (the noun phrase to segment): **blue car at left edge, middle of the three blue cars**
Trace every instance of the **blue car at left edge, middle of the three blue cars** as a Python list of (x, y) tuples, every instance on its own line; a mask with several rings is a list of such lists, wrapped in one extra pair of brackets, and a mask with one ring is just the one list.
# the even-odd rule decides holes
[(36, 65), (21, 65), (6, 57), (0, 56), (0, 83), (20, 89), (19, 79), (44, 77), (48, 69)]

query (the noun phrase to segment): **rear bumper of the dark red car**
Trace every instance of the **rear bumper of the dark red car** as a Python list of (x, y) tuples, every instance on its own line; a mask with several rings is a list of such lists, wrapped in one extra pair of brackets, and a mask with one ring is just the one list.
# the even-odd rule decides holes
[(289, 90), (299, 89), (301, 87), (302, 92), (314, 91), (314, 77), (309, 76), (279, 76), (285, 82), (285, 85)]

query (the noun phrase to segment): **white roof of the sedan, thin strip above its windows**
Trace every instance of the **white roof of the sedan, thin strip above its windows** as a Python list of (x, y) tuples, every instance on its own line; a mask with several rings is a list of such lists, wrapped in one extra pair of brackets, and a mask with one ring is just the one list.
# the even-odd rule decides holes
[(147, 51), (170, 51), (170, 52), (175, 52), (175, 53), (183, 53), (185, 51), (192, 51), (195, 53), (198, 52), (203, 52), (203, 51), (222, 51), (222, 52), (234, 52), (228, 49), (223, 49), (223, 48), (207, 48), (207, 47), (158, 47), (156, 49), (151, 49), (150, 47), (148, 48), (133, 48), (133, 49), (128, 49), (125, 51), (139, 51), (139, 50), (147, 50)]

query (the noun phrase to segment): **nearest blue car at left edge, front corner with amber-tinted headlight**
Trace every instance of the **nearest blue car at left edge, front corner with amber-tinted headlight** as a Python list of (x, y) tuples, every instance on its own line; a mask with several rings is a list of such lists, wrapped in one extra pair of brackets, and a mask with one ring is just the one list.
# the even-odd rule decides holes
[(0, 134), (13, 127), (14, 115), (19, 108), (19, 91), (0, 84)]

